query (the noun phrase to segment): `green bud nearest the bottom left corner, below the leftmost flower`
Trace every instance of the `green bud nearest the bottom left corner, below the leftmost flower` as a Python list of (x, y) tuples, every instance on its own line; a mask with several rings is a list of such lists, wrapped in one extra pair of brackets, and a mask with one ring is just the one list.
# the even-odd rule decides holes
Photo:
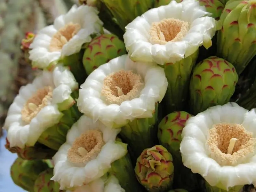
[(28, 161), (17, 158), (11, 167), (13, 182), (26, 191), (34, 192), (33, 186), (39, 173), (48, 169), (47, 163), (41, 160)]

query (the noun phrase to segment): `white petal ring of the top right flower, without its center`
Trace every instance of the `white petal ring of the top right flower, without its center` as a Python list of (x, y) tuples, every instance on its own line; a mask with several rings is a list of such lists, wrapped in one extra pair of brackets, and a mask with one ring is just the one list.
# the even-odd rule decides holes
[[(199, 2), (194, 0), (185, 0), (181, 3), (171, 1), (168, 5), (148, 10), (125, 27), (124, 43), (129, 56), (134, 61), (154, 61), (160, 65), (175, 63), (188, 57), (204, 42), (211, 41), (215, 34), (215, 21), (207, 16), (209, 14), (205, 12), (204, 6), (200, 6)], [(193, 24), (192, 28), (180, 42), (168, 42), (165, 45), (151, 44), (149, 40), (151, 24), (169, 18), (187, 21)], [(204, 22), (193, 23), (198, 19)], [(198, 29), (197, 33), (195, 28)]]

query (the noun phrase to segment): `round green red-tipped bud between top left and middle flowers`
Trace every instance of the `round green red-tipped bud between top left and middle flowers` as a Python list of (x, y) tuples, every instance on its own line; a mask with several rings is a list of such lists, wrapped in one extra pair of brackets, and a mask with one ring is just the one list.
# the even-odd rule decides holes
[(95, 37), (84, 52), (83, 64), (87, 75), (111, 59), (126, 54), (124, 42), (113, 34)]

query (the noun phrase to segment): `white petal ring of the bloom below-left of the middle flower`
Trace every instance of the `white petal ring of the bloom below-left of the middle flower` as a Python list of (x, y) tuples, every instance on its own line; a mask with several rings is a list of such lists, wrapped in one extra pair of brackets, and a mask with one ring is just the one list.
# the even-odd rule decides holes
[[(67, 158), (68, 149), (82, 133), (91, 129), (100, 129), (106, 144), (100, 154), (91, 161), (83, 164), (70, 163)], [(53, 156), (54, 176), (52, 179), (60, 183), (61, 188), (78, 187), (102, 177), (111, 168), (111, 164), (127, 153), (126, 145), (115, 143), (119, 129), (110, 130), (100, 122), (93, 122), (87, 116), (80, 119), (71, 127), (67, 134), (67, 141)], [(95, 188), (95, 186), (93, 187)]]

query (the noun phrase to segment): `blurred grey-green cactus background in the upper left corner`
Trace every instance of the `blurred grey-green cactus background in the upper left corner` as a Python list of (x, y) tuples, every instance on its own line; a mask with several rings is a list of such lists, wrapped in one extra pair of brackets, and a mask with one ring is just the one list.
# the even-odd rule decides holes
[(0, 136), (8, 107), (20, 86), (31, 82), (32, 70), (22, 54), (21, 40), (66, 13), (74, 0), (0, 0)]

